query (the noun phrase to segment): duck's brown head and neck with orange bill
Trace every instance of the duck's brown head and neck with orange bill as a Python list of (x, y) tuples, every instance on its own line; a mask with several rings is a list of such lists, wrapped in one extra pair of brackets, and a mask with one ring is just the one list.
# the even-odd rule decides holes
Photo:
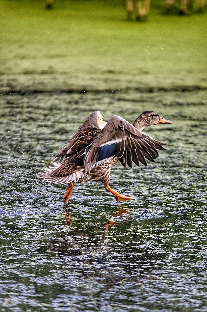
[(172, 124), (172, 121), (161, 117), (151, 110), (146, 110), (135, 119), (133, 126), (142, 131), (145, 127), (152, 126), (153, 124)]

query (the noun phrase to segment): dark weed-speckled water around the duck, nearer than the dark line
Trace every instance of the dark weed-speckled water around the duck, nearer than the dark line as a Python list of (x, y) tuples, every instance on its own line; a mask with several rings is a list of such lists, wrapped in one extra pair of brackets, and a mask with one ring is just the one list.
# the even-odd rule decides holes
[[(12, 94), (1, 97), (0, 311), (207, 311), (206, 92)], [(117, 203), (99, 183), (35, 174), (94, 110), (169, 144), (148, 166), (113, 167)]]

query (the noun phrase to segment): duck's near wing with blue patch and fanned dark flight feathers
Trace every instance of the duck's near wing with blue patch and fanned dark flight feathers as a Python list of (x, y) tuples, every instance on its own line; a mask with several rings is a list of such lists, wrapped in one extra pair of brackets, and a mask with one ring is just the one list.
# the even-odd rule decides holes
[(85, 154), (84, 166), (88, 172), (94, 167), (118, 158), (122, 165), (132, 167), (132, 161), (147, 165), (145, 158), (154, 161), (157, 149), (166, 145), (137, 130), (119, 116), (113, 116)]

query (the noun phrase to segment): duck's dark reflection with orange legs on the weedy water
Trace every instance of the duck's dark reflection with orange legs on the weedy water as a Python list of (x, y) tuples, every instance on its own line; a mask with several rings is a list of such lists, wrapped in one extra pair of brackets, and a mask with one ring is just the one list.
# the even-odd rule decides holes
[[(101, 226), (105, 229), (104, 232), (103, 230), (97, 231), (95, 224), (92, 227), (88, 224), (85, 229), (81, 229), (82, 226), (79, 224), (83, 222), (81, 215), (80, 218), (73, 218), (71, 208), (67, 205), (64, 206), (62, 212), (67, 225), (71, 227), (73, 222), (76, 230), (71, 228), (66, 236), (48, 242), (51, 250), (63, 257), (66, 265), (70, 264), (71, 274), (74, 269), (73, 263), (75, 265), (80, 263), (77, 267), (79, 276), (81, 274), (82, 277), (89, 279), (91, 276), (101, 278), (106, 287), (108, 285), (111, 287), (123, 278), (131, 282), (136, 281), (143, 272), (147, 272), (150, 276), (150, 271), (154, 270), (153, 267), (157, 261), (165, 257), (165, 253), (160, 252), (159, 249), (152, 252), (154, 247), (145, 244), (142, 239), (137, 237), (135, 241), (133, 236), (131, 240), (128, 235), (120, 231), (118, 225), (122, 224), (124, 227), (126, 225), (127, 228), (133, 215), (132, 211), (127, 210), (126, 205), (119, 205), (116, 211), (108, 217), (108, 221), (103, 220)], [(115, 224), (117, 227), (114, 227), (111, 231), (112, 235), (108, 236), (110, 227)]]

